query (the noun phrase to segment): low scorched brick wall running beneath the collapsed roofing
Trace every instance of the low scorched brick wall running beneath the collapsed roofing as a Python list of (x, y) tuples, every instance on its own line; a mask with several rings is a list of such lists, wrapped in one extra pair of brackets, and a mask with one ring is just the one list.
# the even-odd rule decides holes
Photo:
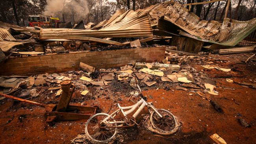
[(124, 50), (81, 51), (69, 54), (46, 54), (8, 59), (0, 66), (0, 75), (29, 75), (41, 72), (59, 73), (77, 69), (79, 63), (95, 68), (111, 68), (137, 62), (161, 62), (165, 47), (133, 48)]

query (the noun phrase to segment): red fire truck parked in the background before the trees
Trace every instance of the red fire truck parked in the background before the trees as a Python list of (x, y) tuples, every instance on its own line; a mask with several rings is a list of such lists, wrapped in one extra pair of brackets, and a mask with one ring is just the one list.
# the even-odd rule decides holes
[(58, 17), (46, 15), (30, 15), (28, 16), (29, 26), (39, 26), (41, 28), (57, 28), (59, 21)]

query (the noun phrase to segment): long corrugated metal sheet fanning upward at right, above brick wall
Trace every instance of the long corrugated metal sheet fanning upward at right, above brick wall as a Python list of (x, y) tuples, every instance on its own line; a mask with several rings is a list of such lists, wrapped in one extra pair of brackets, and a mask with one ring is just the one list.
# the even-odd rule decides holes
[[(152, 37), (148, 12), (139, 11), (130, 13), (129, 18), (125, 17), (117, 22), (100, 30), (74, 30), (74, 29), (41, 29), (40, 39), (58, 39), (52, 36), (85, 36), (85, 37)], [(60, 38), (60, 37), (59, 37)], [(61, 38), (61, 39), (69, 39)]]

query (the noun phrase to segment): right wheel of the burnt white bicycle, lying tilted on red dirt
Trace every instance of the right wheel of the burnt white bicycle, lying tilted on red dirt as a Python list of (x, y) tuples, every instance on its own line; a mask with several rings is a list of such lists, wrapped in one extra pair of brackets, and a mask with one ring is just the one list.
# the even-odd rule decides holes
[(153, 111), (150, 115), (151, 124), (156, 129), (160, 130), (161, 134), (172, 133), (177, 127), (174, 115), (165, 109), (158, 109), (157, 111), (163, 116), (163, 118), (160, 118), (160, 116)]

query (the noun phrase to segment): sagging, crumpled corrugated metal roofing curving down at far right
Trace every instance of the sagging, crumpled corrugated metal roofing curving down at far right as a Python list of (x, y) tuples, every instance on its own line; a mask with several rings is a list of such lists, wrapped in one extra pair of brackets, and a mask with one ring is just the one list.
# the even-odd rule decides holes
[(223, 23), (201, 20), (186, 7), (171, 2), (165, 9), (164, 19), (199, 39), (226, 46), (235, 46), (256, 29), (256, 18), (237, 21), (225, 18)]

